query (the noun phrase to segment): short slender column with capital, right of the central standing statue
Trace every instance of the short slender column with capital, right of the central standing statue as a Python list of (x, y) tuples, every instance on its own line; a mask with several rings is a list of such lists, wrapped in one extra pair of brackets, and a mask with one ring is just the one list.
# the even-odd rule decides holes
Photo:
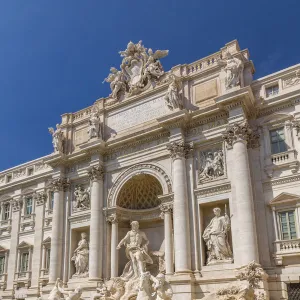
[(165, 267), (166, 267), (167, 275), (174, 273), (172, 209), (173, 209), (173, 203), (164, 203), (161, 204), (160, 206), (160, 210), (162, 211), (161, 217), (164, 219)]

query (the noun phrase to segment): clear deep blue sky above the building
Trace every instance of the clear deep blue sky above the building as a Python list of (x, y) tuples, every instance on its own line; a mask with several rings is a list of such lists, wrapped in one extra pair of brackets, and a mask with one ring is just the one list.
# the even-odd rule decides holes
[(165, 70), (238, 39), (261, 77), (300, 62), (299, 1), (0, 2), (0, 170), (52, 151), (60, 115), (109, 94), (129, 40), (169, 49)]

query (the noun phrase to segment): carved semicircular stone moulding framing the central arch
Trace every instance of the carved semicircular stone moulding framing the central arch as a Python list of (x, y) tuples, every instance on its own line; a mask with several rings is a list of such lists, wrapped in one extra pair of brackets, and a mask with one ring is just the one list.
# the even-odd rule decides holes
[[(127, 170), (125, 170), (115, 181), (115, 183), (113, 184), (109, 195), (108, 195), (108, 199), (107, 199), (107, 203), (109, 204), (109, 206), (112, 206), (112, 199), (113, 196), (117, 190), (117, 188), (119, 187), (120, 183), (123, 181), (123, 179), (128, 176), (130, 173), (133, 173), (136, 170), (142, 170), (142, 169), (150, 169), (150, 170), (154, 170), (156, 173), (159, 173), (160, 175), (162, 175), (164, 177), (164, 180), (167, 184), (168, 187), (168, 193), (172, 192), (172, 182), (171, 179), (169, 178), (169, 176), (166, 174), (166, 172), (161, 169), (159, 166), (156, 165), (152, 165), (152, 164), (138, 164), (138, 165), (134, 165), (130, 168), (128, 168)], [(147, 172), (143, 172), (143, 173), (147, 173)], [(134, 175), (138, 175), (138, 174), (134, 174)]]

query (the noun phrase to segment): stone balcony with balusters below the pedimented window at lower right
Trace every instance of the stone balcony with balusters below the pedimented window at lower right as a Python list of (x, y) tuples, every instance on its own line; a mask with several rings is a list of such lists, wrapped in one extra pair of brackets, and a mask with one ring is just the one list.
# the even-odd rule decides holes
[(275, 241), (274, 246), (276, 265), (282, 265), (285, 257), (300, 256), (300, 239)]

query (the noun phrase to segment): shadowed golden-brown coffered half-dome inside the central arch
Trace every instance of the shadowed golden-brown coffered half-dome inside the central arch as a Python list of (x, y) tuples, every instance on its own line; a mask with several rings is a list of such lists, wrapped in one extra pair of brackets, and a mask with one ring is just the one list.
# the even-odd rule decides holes
[(158, 207), (160, 205), (158, 196), (162, 194), (162, 186), (155, 177), (149, 174), (135, 175), (121, 188), (117, 206), (133, 210)]

